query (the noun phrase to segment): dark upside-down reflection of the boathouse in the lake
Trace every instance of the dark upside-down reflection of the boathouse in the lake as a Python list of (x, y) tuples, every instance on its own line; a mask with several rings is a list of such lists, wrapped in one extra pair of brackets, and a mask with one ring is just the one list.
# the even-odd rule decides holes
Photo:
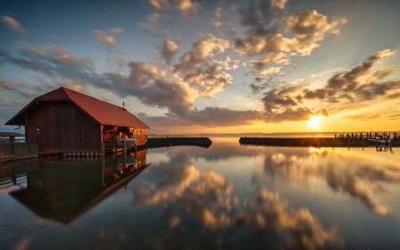
[(146, 167), (146, 151), (100, 161), (43, 160), (10, 195), (41, 218), (69, 224)]

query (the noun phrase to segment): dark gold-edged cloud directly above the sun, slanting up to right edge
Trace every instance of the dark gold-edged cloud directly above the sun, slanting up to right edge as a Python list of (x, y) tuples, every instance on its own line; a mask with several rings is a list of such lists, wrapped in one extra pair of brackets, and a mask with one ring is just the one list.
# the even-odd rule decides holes
[[(393, 69), (374, 70), (379, 59), (390, 54), (390, 50), (372, 54), (350, 71), (335, 74), (321, 88), (312, 88), (312, 84), (271, 88), (262, 97), (267, 121), (305, 121), (310, 115), (328, 116), (378, 98), (395, 98), (400, 95), (400, 80), (385, 80)], [(253, 88), (259, 90), (256, 85)]]

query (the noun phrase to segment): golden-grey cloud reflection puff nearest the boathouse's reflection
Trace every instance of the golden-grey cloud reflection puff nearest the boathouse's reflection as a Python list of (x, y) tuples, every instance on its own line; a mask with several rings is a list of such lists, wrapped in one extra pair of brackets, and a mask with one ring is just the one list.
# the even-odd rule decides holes
[[(219, 228), (229, 225), (228, 212), (237, 201), (232, 196), (233, 187), (213, 171), (199, 173), (187, 162), (184, 154), (171, 158), (170, 162), (155, 166), (165, 178), (154, 187), (135, 186), (133, 208), (154, 204), (180, 204), (206, 227)], [(154, 169), (154, 167), (153, 167)], [(179, 216), (169, 212), (171, 228), (179, 224)]]

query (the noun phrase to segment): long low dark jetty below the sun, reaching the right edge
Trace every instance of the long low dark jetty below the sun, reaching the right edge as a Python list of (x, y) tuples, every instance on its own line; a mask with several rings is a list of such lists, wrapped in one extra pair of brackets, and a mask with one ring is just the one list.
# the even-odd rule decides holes
[[(243, 145), (264, 146), (332, 146), (332, 147), (364, 147), (374, 146), (368, 140), (371, 137), (388, 137), (389, 133), (367, 134), (341, 134), (335, 137), (240, 137), (239, 143)], [(400, 143), (392, 143), (382, 146), (400, 146)]]

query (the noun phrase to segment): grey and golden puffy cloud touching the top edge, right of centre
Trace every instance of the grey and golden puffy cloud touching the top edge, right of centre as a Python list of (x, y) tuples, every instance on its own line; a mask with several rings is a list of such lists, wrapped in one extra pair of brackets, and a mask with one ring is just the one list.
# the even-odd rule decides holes
[[(253, 63), (256, 71), (268, 68), (272, 63), (289, 64), (289, 58), (312, 53), (319, 42), (329, 34), (337, 34), (344, 19), (328, 21), (315, 10), (302, 11), (285, 16), (286, 1), (252, 1), (241, 11), (246, 37), (236, 38), (234, 46), (239, 54), (257, 56)], [(254, 14), (257, 13), (257, 14)], [(291, 36), (289, 36), (291, 35)], [(260, 75), (258, 79), (263, 79)]]

